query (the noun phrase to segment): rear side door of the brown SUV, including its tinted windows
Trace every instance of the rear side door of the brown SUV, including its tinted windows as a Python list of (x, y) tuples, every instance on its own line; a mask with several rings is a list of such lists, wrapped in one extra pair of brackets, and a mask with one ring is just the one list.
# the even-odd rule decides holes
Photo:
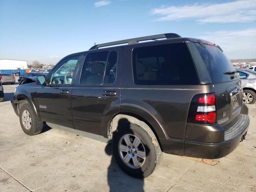
[[(102, 135), (102, 121), (120, 106), (122, 48), (87, 54), (72, 90), (74, 128)], [(79, 70), (79, 71), (80, 71)]]

